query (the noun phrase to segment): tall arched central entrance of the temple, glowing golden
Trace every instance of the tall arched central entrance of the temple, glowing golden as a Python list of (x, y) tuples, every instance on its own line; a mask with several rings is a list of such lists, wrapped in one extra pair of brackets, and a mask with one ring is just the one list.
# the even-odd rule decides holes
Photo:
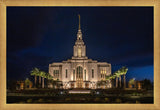
[(77, 83), (77, 88), (82, 88), (83, 86), (83, 68), (80, 66), (77, 67), (76, 83)]

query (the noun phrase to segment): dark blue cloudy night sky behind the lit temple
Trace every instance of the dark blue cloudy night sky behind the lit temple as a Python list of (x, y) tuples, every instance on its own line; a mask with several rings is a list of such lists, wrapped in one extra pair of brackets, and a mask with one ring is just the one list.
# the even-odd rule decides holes
[(88, 58), (153, 81), (153, 7), (7, 7), (7, 79), (71, 58), (78, 14)]

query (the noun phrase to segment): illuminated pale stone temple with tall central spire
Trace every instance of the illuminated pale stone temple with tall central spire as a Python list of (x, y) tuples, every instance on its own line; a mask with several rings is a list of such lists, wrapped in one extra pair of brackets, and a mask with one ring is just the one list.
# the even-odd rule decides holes
[[(73, 46), (71, 59), (62, 62), (49, 64), (49, 74), (54, 80), (61, 81), (64, 89), (69, 88), (111, 88), (111, 81), (104, 86), (98, 86), (101, 81), (106, 81), (106, 76), (111, 74), (111, 64), (88, 59), (86, 56), (86, 45), (82, 39), (80, 26), (77, 33), (77, 40)], [(49, 87), (52, 87), (50, 85)]]

